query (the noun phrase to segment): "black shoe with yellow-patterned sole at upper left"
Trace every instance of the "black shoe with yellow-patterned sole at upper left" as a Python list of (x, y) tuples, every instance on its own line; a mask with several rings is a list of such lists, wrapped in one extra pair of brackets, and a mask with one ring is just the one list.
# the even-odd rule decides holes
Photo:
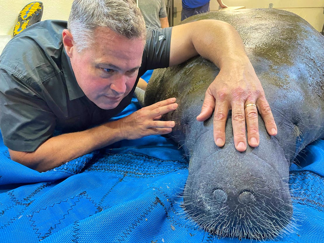
[(32, 24), (41, 21), (43, 15), (43, 3), (42, 2), (31, 2), (24, 6), (19, 12), (18, 21), (14, 28), (13, 35), (19, 34), (21, 31), (26, 29)]

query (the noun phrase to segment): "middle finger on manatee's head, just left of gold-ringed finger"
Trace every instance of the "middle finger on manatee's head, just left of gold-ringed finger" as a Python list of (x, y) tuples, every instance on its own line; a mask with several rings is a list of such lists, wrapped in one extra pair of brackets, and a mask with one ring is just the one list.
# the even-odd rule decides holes
[(241, 101), (232, 104), (232, 126), (235, 148), (243, 152), (246, 150), (246, 134), (244, 104)]

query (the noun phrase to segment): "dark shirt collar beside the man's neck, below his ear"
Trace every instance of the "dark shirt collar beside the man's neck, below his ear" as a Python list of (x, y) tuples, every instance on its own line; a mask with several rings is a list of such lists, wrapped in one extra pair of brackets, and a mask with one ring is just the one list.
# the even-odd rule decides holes
[(75, 75), (71, 66), (70, 57), (68, 57), (68, 55), (66, 54), (64, 47), (62, 48), (61, 65), (70, 100), (85, 96), (82, 89), (76, 82)]

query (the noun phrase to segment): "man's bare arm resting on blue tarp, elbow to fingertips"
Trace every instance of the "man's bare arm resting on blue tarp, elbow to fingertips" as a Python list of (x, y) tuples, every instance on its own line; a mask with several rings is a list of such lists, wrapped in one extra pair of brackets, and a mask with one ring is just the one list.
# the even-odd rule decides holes
[(176, 110), (175, 98), (144, 107), (117, 121), (75, 133), (49, 138), (34, 152), (9, 149), (12, 160), (37, 171), (47, 171), (123, 139), (138, 139), (152, 134), (167, 134), (174, 121), (159, 121), (161, 115)]

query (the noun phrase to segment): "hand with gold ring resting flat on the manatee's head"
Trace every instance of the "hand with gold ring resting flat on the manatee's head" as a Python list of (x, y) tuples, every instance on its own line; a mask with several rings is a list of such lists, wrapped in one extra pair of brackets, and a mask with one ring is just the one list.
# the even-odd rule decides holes
[(249, 61), (223, 67), (205, 93), (202, 111), (197, 120), (205, 121), (214, 111), (214, 141), (219, 147), (225, 144), (225, 125), (230, 109), (234, 145), (238, 151), (243, 152), (247, 148), (245, 127), (249, 146), (259, 145), (258, 110), (267, 132), (270, 135), (277, 134), (271, 108)]

